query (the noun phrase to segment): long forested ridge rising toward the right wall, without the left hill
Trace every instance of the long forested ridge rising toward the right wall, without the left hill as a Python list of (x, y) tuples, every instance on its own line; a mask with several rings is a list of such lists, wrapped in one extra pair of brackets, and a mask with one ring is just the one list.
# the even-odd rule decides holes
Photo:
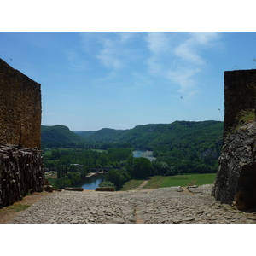
[[(221, 143), (223, 122), (220, 121), (175, 121), (172, 124), (137, 125), (131, 130), (104, 128), (88, 134), (79, 132), (91, 143), (131, 143), (133, 147), (157, 149), (216, 148)], [(84, 136), (86, 135), (86, 137)]]

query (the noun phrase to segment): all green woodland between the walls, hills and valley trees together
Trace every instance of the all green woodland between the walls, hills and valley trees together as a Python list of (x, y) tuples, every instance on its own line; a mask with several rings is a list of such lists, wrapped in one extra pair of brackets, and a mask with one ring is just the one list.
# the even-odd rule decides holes
[[(125, 131), (102, 129), (85, 132), (84, 138), (78, 135), (82, 135), (82, 131), (75, 134), (63, 125), (43, 126), (42, 145), (54, 147), (44, 150), (44, 164), (49, 170), (57, 171), (59, 179), (63, 178), (57, 186), (73, 185), (96, 166), (113, 168), (107, 181), (114, 183), (116, 189), (131, 177), (215, 173), (222, 132), (223, 122), (218, 121), (175, 121), (172, 124), (138, 125)], [(155, 160), (133, 158), (132, 148), (152, 150)]]

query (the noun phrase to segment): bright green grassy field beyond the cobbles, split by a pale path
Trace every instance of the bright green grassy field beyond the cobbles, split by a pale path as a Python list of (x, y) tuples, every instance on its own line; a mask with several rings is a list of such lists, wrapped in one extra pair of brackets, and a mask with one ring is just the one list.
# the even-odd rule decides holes
[[(166, 187), (187, 187), (192, 185), (212, 184), (215, 180), (216, 173), (207, 174), (188, 174), (176, 176), (154, 176), (150, 177), (148, 183), (143, 189), (159, 189)], [(143, 183), (143, 180), (131, 180), (123, 186), (122, 191), (137, 189)]]

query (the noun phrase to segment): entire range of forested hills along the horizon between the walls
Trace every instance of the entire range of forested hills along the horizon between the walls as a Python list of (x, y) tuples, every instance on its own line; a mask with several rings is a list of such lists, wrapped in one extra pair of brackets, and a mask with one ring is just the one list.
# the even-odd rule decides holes
[(127, 144), (133, 148), (166, 152), (183, 148), (204, 152), (208, 148), (220, 149), (223, 122), (175, 121), (172, 124), (137, 125), (130, 130), (104, 128), (99, 131), (70, 131), (67, 126), (55, 125), (41, 128), (42, 147), (78, 147), (97, 144), (105, 148), (113, 143)]

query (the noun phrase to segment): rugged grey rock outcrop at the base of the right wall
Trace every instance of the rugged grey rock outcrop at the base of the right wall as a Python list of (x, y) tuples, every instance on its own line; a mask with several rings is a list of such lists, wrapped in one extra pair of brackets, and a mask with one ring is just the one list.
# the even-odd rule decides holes
[(241, 209), (256, 206), (256, 122), (242, 125), (224, 140), (212, 195)]

